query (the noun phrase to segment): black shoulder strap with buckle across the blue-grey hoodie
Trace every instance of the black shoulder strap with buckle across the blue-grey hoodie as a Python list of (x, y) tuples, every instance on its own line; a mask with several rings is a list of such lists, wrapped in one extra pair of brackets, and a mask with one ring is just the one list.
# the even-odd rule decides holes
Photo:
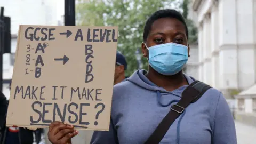
[(158, 144), (164, 138), (165, 133), (169, 130), (172, 123), (177, 119), (185, 110), (185, 108), (193, 102), (196, 102), (211, 86), (195, 81), (191, 83), (181, 95), (180, 101), (171, 106), (171, 110), (164, 117), (161, 123), (156, 127), (153, 134), (150, 135), (145, 144)]

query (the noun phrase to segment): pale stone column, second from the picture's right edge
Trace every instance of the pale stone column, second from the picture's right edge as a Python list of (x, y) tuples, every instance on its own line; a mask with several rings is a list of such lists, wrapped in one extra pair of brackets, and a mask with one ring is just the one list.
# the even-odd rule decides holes
[(219, 90), (231, 98), (230, 90), (238, 88), (237, 5), (236, 1), (219, 1)]

